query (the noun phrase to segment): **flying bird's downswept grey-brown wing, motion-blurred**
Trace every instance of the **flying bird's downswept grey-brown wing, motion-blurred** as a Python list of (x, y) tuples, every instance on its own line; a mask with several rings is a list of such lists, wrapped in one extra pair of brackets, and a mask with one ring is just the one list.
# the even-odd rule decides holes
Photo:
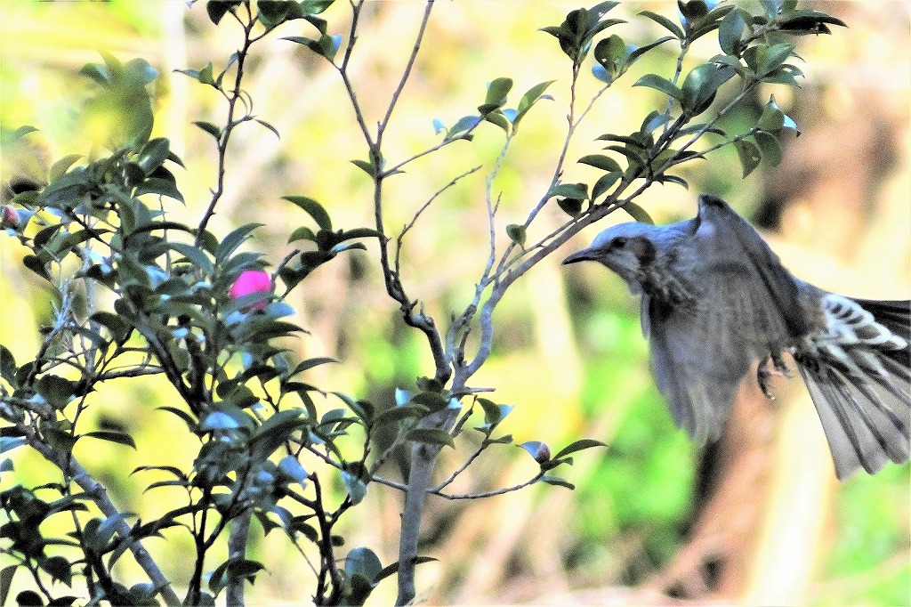
[(693, 277), (689, 304), (651, 297), (651, 365), (677, 424), (697, 441), (721, 435), (743, 376), (811, 326), (800, 286), (726, 202), (700, 197), (691, 237), (679, 243), (675, 272)]

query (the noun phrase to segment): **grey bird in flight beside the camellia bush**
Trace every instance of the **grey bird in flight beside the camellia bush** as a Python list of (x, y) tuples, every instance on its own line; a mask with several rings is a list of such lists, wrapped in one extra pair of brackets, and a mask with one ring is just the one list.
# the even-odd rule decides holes
[(641, 294), (651, 369), (674, 421), (717, 439), (738, 386), (759, 362), (793, 356), (813, 397), (838, 478), (911, 453), (911, 302), (829, 293), (795, 278), (752, 226), (703, 194), (666, 226), (622, 223), (563, 263), (600, 262)]

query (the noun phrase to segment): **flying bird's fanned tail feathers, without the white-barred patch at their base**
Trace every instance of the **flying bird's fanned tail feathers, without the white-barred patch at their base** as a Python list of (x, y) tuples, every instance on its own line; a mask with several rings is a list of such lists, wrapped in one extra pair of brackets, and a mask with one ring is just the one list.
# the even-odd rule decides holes
[[(888, 460), (904, 463), (911, 456), (911, 304), (854, 301), (904, 340), (904, 347), (896, 347), (895, 341), (884, 347), (865, 344), (864, 355), (872, 353), (872, 362), (878, 363), (873, 366), (865, 364), (868, 359), (844, 365), (835, 357), (794, 355), (823, 423), (838, 478), (858, 468), (873, 474)], [(853, 357), (850, 347), (842, 350)]]

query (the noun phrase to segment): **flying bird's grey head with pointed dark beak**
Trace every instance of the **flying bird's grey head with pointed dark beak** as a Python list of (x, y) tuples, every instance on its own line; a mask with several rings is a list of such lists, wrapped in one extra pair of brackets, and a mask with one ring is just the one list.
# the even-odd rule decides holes
[(618, 273), (639, 293), (652, 262), (658, 255), (655, 226), (648, 223), (620, 223), (602, 231), (588, 249), (569, 255), (563, 263), (599, 262)]

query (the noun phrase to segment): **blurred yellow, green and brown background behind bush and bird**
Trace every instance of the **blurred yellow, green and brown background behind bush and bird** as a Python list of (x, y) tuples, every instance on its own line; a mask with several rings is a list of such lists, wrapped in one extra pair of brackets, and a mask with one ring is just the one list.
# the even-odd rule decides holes
[[(812, 3), (807, 3), (812, 5)], [(770, 94), (803, 134), (785, 136), (783, 163), (763, 164), (741, 180), (733, 149), (687, 165), (691, 189), (656, 186), (639, 200), (659, 222), (695, 213), (707, 190), (722, 195), (763, 230), (793, 273), (825, 289), (865, 298), (911, 296), (911, 5), (904, 1), (825, 2), (817, 6), (849, 28), (833, 36), (798, 40), (806, 64), (799, 91), (768, 87), (743, 104), (741, 118), (761, 111)], [(516, 80), (514, 96), (556, 79), (525, 118), (500, 171), (497, 221), (522, 222), (547, 190), (566, 129), (569, 66), (551, 36), (578, 3), (463, 0), (435, 5), (415, 73), (404, 89), (386, 142), (390, 161), (432, 146), (433, 120), (453, 124), (483, 99), (495, 77)], [(615, 9), (630, 20), (611, 32), (645, 44), (663, 35), (635, 14), (648, 9), (676, 19), (676, 4), (630, 2)], [(367, 5), (353, 57), (352, 77), (368, 124), (382, 116), (413, 44), (423, 4), (405, 0)], [(344, 34), (347, 3), (323, 16), (330, 34)], [(255, 113), (281, 139), (256, 125), (239, 129), (229, 154), (227, 194), (210, 223), (217, 234), (248, 221), (265, 223), (251, 249), (280, 260), (294, 227), (306, 221), (282, 203), (300, 194), (322, 201), (336, 227), (369, 226), (370, 182), (350, 159), (366, 158), (353, 111), (335, 70), (280, 36), (312, 35), (293, 22), (258, 47), (246, 88)], [(4, 149), (2, 180), (46, 180), (46, 168), (71, 153), (87, 154), (79, 136), (79, 109), (87, 78), (77, 75), (99, 51), (126, 61), (146, 58), (159, 69), (153, 136), (168, 137), (184, 160), (179, 170), (186, 207), (169, 201), (181, 221), (195, 222), (210, 200), (216, 158), (210, 136), (193, 120), (216, 124), (222, 99), (210, 87), (174, 73), (216, 67), (240, 41), (226, 20), (210, 24), (203, 3), (5, 1), (0, 4), (0, 126), (33, 125), (39, 133)], [(717, 52), (714, 36), (694, 46), (696, 57)], [(596, 153), (594, 138), (629, 133), (663, 103), (655, 91), (632, 88), (641, 73), (670, 76), (670, 44), (643, 58), (592, 111), (570, 159)], [(581, 98), (598, 83), (583, 76)], [(722, 91), (724, 89), (722, 88)], [(415, 162), (387, 182), (387, 228), (397, 233), (436, 190), (477, 164), (421, 217), (404, 248), (403, 279), (439, 324), (461, 311), (474, 293), (486, 260), (484, 180), (502, 144), (502, 131), (479, 129), (461, 142)], [(564, 181), (591, 180), (589, 168), (568, 164)], [(622, 211), (620, 211), (622, 213)], [(543, 235), (564, 221), (556, 205), (533, 226)], [(608, 222), (628, 221), (615, 215)], [(602, 228), (603, 226), (598, 226)], [(592, 228), (565, 251), (588, 244)], [(373, 245), (371, 245), (373, 247)], [(301, 356), (330, 355), (338, 365), (312, 372), (310, 381), (376, 403), (392, 402), (396, 386), (432, 375), (425, 341), (401, 322), (384, 293), (375, 249), (353, 252), (320, 267), (292, 295), (298, 322), (311, 331), (295, 347)], [(418, 567), (419, 602), (425, 604), (909, 604), (909, 474), (890, 465), (871, 478), (838, 483), (821, 427), (798, 379), (776, 378), (774, 401), (744, 386), (722, 440), (694, 448), (677, 431), (648, 370), (638, 303), (619, 278), (603, 268), (559, 267), (562, 253), (545, 260), (507, 293), (497, 308), (494, 355), (474, 378), (496, 387), (496, 402), (516, 406), (501, 427), (517, 442), (543, 440), (552, 449), (597, 438), (607, 449), (578, 454), (563, 474), (575, 491), (533, 487), (493, 499), (430, 499), (422, 553), (439, 562)], [(38, 344), (37, 327), (51, 307), (45, 287), (21, 264), (25, 250), (0, 237), (0, 343), (20, 362)], [(584, 266), (585, 264), (583, 264)], [(142, 495), (143, 479), (128, 477), (141, 464), (188, 468), (191, 445), (176, 444), (182, 422), (155, 411), (169, 404), (168, 386), (136, 381), (106, 386), (91, 412), (133, 432), (138, 452), (107, 443), (77, 445), (81, 458), (122, 509), (144, 519), (168, 507), (175, 494)], [(322, 403), (326, 408), (333, 402)], [(445, 450), (440, 474), (457, 467), (467, 447)], [(16, 454), (16, 477), (34, 485), (56, 479), (37, 458)], [(306, 464), (305, 464), (306, 467)], [(308, 468), (311, 469), (311, 468)], [(496, 489), (532, 476), (537, 465), (521, 449), (487, 451), (455, 492)], [(398, 478), (393, 464), (387, 476)], [(335, 488), (338, 495), (343, 489)], [(344, 521), (348, 546), (366, 545), (384, 564), (394, 561), (403, 496), (371, 486), (364, 503)], [(308, 602), (310, 571), (276, 534), (257, 536), (251, 557), (271, 563), (251, 588), (251, 603)], [(189, 542), (150, 543), (178, 578), (179, 550)], [(286, 556), (278, 557), (277, 555)], [(213, 563), (212, 566), (214, 567)], [(134, 575), (125, 564), (125, 576)], [(135, 575), (138, 581), (138, 574)], [(295, 596), (292, 592), (302, 592)], [(377, 590), (373, 604), (390, 604), (394, 583)]]

